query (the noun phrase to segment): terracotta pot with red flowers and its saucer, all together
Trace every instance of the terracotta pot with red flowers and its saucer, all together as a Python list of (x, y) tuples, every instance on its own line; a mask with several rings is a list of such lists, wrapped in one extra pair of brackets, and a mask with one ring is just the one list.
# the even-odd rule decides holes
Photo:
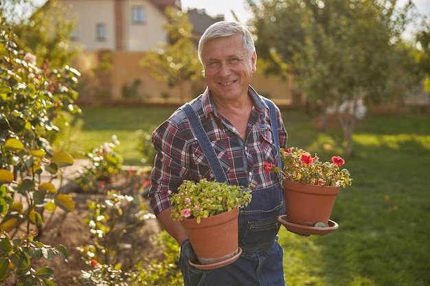
[(330, 220), (336, 196), (341, 187), (352, 184), (348, 169), (341, 169), (345, 160), (332, 156), (331, 162), (321, 162), (298, 147), (280, 149), (283, 166), (266, 163), (267, 171), (282, 176), (286, 215), (280, 222), (290, 231), (305, 235), (325, 235), (337, 229)]

